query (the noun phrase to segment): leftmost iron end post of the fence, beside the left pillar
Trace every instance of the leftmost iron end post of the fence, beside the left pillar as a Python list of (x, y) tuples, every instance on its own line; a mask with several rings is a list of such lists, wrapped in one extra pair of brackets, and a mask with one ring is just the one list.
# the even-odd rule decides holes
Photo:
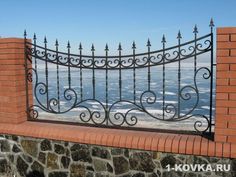
[[(29, 94), (28, 94), (28, 61), (27, 61), (27, 57), (28, 57), (28, 53), (27, 53), (27, 39), (26, 39), (26, 31), (24, 31), (24, 59), (25, 59), (25, 93), (26, 93), (26, 115), (27, 115), (27, 119), (30, 119), (30, 113), (29, 113)], [(33, 83), (32, 83), (33, 84)]]

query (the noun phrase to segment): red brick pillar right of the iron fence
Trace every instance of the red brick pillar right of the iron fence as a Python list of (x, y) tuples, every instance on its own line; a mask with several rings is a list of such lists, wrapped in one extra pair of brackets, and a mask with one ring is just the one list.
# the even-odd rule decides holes
[(215, 141), (236, 143), (236, 27), (217, 29)]

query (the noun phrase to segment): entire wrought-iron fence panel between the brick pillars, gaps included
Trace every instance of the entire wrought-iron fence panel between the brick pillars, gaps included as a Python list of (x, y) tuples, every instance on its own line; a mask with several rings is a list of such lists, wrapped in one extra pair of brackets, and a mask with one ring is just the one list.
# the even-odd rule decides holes
[[(148, 40), (147, 52), (144, 53), (136, 53), (133, 42), (132, 54), (123, 55), (119, 44), (118, 55), (109, 55), (106, 45), (104, 56), (95, 55), (93, 45), (91, 55), (83, 54), (81, 44), (78, 54), (71, 53), (69, 42), (67, 52), (60, 52), (57, 40), (55, 49), (51, 50), (46, 37), (44, 46), (39, 46), (36, 35), (33, 42), (29, 42), (25, 32), (26, 91), (30, 95), (32, 89), (34, 95), (32, 104), (32, 97), (27, 97), (28, 119), (134, 129), (141, 122), (138, 129), (152, 130), (170, 130), (172, 122), (177, 124), (187, 120), (192, 123), (191, 132), (211, 133), (214, 124), (213, 26), (211, 20), (210, 33), (201, 37), (198, 37), (195, 26), (194, 39), (184, 43), (179, 32), (178, 44), (173, 47), (166, 47), (163, 35), (160, 50), (151, 51)], [(205, 53), (210, 56), (204, 57)], [(205, 60), (203, 66), (198, 65), (200, 56)], [(190, 70), (183, 71), (184, 62), (192, 65), (191, 73)], [(175, 69), (167, 69), (169, 65), (174, 65)], [(167, 77), (173, 70), (176, 74)], [(184, 83), (188, 75), (191, 82)], [(207, 82), (205, 88), (209, 98), (204, 103), (200, 103), (199, 78)], [(170, 79), (174, 81), (173, 98), (168, 96)], [(176, 101), (171, 103), (170, 99)], [(208, 106), (207, 114), (204, 106)], [(59, 118), (70, 112), (75, 113), (73, 121), (68, 117)], [(151, 127), (145, 126), (147, 122)], [(156, 127), (152, 126), (154, 124)], [(178, 126), (182, 128), (183, 125)], [(181, 132), (179, 127), (174, 130)]]

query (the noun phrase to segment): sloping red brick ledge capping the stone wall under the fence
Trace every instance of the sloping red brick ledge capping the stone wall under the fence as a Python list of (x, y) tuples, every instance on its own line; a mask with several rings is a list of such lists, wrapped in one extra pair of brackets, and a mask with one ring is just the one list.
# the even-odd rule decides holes
[(236, 158), (236, 144), (196, 135), (104, 129), (64, 124), (24, 122), (0, 124), (0, 133), (109, 147)]

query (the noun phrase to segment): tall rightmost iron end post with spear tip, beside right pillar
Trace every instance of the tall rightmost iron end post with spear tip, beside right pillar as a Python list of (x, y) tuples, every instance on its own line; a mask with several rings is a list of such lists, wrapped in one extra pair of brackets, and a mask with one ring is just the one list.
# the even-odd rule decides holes
[(211, 83), (210, 83), (210, 125), (209, 125), (209, 133), (211, 133), (212, 129), (212, 93), (213, 93), (213, 44), (214, 44), (214, 39), (213, 39), (213, 27), (214, 27), (214, 22), (213, 19), (210, 21), (210, 28), (211, 28)]

